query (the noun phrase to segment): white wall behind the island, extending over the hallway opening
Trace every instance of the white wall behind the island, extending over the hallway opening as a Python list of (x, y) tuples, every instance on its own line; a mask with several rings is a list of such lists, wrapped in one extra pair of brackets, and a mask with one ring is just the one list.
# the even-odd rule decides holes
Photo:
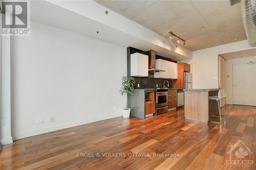
[(251, 48), (245, 40), (193, 52), (193, 88), (218, 88), (218, 55)]

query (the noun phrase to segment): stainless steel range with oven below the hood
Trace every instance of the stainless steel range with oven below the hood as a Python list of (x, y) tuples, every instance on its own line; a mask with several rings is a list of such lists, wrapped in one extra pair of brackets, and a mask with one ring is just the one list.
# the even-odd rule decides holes
[(156, 89), (156, 115), (162, 114), (168, 111), (168, 89), (157, 88)]

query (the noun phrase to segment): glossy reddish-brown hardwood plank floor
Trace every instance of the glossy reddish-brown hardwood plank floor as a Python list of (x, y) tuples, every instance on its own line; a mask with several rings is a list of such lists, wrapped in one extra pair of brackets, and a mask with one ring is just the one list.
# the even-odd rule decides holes
[[(255, 163), (250, 167), (226, 164), (230, 145), (239, 139), (256, 155), (256, 107), (228, 109), (230, 116), (221, 126), (186, 120), (180, 109), (19, 139), (3, 147), (0, 169), (256, 169)], [(104, 153), (119, 156), (104, 157)], [(162, 153), (179, 156), (156, 156)], [(248, 156), (255, 162), (253, 155)]]

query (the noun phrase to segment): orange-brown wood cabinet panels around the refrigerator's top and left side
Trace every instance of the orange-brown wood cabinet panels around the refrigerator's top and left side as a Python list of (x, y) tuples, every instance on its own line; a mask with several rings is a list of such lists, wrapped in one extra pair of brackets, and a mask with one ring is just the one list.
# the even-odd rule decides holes
[(173, 80), (174, 88), (184, 88), (184, 72), (190, 72), (190, 64), (179, 63), (178, 64), (178, 79)]

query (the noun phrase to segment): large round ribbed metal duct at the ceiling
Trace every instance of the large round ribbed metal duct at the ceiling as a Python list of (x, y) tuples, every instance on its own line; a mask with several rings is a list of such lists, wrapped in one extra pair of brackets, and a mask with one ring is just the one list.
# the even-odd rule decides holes
[(241, 17), (246, 33), (246, 37), (250, 46), (256, 46), (256, 0), (241, 1)]

